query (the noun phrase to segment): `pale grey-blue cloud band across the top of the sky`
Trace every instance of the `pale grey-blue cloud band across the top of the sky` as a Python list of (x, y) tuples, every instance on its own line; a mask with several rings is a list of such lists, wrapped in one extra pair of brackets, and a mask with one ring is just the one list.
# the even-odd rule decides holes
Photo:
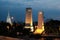
[(60, 0), (1, 0), (8, 1), (10, 6), (18, 4), (23, 7), (31, 6), (33, 8), (47, 8), (47, 9), (60, 9)]

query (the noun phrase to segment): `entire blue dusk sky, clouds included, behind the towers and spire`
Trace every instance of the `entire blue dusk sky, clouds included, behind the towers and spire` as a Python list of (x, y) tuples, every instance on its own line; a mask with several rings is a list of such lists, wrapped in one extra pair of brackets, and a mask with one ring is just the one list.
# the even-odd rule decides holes
[(14, 21), (24, 21), (27, 7), (32, 8), (34, 21), (40, 10), (44, 19), (60, 20), (60, 0), (0, 0), (0, 21), (6, 20), (8, 11)]

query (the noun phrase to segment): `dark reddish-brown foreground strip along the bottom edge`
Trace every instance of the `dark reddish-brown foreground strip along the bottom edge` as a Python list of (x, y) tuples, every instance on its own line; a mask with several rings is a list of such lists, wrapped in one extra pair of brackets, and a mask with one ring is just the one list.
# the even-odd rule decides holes
[(37, 39), (37, 38), (28, 38), (28, 36), (24, 36), (23, 38), (0, 36), (0, 40), (60, 40), (60, 37), (42, 36)]

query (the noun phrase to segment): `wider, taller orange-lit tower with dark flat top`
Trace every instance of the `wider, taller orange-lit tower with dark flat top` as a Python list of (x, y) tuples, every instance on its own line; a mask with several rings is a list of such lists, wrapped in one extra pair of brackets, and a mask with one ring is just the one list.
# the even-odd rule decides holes
[(32, 8), (26, 8), (26, 19), (25, 19), (25, 28), (30, 28), (31, 32), (33, 32), (33, 24), (32, 24)]

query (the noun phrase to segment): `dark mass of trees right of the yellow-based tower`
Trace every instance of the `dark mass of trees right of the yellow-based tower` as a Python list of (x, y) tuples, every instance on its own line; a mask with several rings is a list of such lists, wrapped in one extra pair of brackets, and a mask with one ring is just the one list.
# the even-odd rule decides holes
[(60, 21), (50, 19), (45, 22), (45, 33), (60, 35)]

